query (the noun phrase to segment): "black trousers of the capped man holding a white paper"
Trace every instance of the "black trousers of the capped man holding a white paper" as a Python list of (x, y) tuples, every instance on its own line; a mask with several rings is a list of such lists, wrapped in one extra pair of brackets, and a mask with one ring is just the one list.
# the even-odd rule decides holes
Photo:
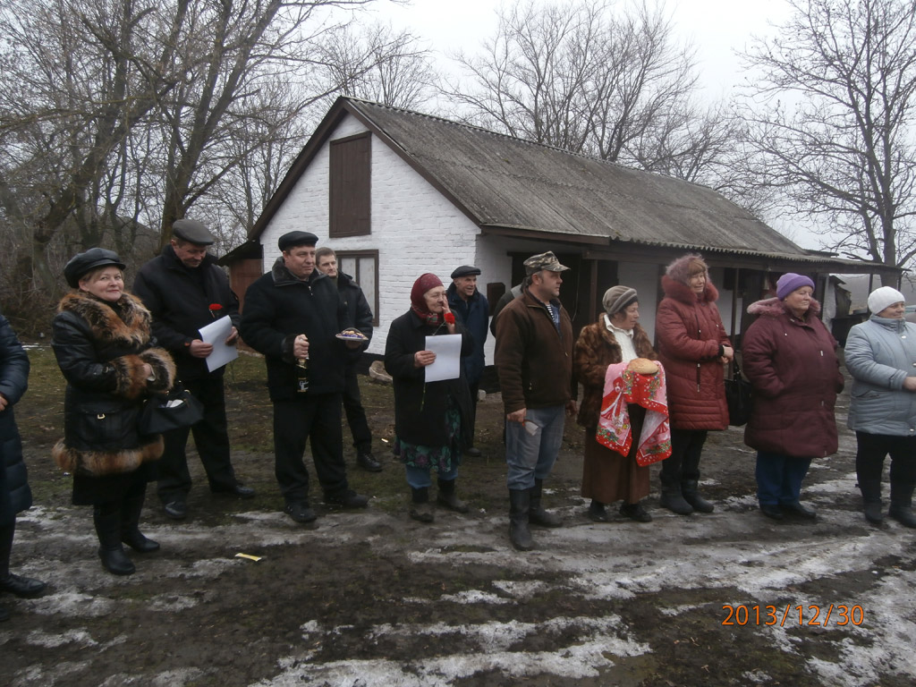
[(162, 436), (165, 451), (158, 462), (157, 486), (162, 503), (184, 500), (191, 491), (191, 473), (185, 453), (189, 432), (194, 435), (194, 445), (201, 456), (210, 488), (214, 491), (231, 489), (237, 483), (229, 456), (223, 376), (206, 376), (183, 383), (203, 404), (203, 420), (191, 428), (180, 427)]

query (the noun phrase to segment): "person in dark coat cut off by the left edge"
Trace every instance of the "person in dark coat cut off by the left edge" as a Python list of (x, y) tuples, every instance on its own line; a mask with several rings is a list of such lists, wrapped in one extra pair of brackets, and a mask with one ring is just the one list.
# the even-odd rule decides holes
[[(13, 328), (0, 315), (0, 592), (35, 596), (45, 583), (9, 572), (9, 556), (16, 532), (16, 514), (32, 505), (22, 442), (13, 417), (13, 406), (26, 393), (28, 356)], [(9, 614), (0, 608), (0, 621)]]

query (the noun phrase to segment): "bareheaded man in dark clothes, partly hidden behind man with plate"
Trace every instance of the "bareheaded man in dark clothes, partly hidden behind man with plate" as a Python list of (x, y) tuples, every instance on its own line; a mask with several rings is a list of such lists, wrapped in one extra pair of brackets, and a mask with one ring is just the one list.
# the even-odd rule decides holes
[[(369, 339), (372, 338), (372, 309), (365, 300), (363, 289), (359, 288), (352, 277), (337, 269), (337, 254), (333, 248), (322, 246), (315, 251), (315, 267), (327, 275), (336, 285), (350, 322)], [(363, 399), (359, 395), (359, 377), (356, 376), (355, 361), (344, 370), (344, 413), (350, 433), (353, 434), (353, 446), (356, 449), (356, 463), (370, 473), (380, 473), (382, 463), (372, 454), (372, 430), (365, 419)]]

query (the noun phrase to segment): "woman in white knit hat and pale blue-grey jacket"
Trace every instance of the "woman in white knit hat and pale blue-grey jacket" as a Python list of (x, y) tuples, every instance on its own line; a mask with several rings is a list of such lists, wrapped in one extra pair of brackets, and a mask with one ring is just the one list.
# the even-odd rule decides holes
[(890, 453), (889, 515), (916, 528), (916, 324), (906, 322), (897, 289), (868, 296), (872, 312), (846, 339), (846, 369), (853, 376), (849, 429), (856, 431), (856, 476), (865, 517), (881, 522), (881, 473)]

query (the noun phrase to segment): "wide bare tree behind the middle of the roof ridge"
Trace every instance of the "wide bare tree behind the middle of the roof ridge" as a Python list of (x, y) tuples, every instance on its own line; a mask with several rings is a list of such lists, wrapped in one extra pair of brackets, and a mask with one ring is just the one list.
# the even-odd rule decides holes
[(503, 10), (485, 54), (458, 61), (470, 83), (448, 95), (511, 136), (708, 181), (733, 134), (720, 107), (695, 104), (693, 49), (662, 5), (529, 0)]

